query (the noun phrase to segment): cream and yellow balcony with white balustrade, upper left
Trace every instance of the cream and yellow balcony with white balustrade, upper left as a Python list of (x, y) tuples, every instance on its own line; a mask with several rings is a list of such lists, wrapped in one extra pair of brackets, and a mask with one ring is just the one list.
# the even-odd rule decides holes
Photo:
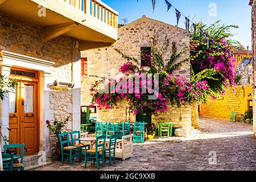
[(60, 35), (79, 40), (79, 49), (111, 46), (118, 13), (100, 0), (0, 0), (0, 11), (44, 28), (44, 41)]

